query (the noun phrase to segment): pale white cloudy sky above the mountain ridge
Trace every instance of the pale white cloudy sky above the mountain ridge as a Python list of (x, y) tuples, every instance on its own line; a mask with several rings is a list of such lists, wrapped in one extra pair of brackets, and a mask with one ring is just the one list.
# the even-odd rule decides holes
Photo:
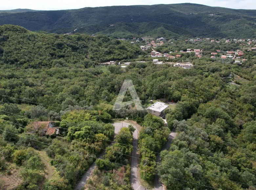
[(256, 0), (1, 0), (0, 10), (35, 9), (62, 10), (84, 7), (104, 7), (113, 5), (155, 5), (172, 3), (197, 3), (212, 7), (232, 9), (256, 9)]

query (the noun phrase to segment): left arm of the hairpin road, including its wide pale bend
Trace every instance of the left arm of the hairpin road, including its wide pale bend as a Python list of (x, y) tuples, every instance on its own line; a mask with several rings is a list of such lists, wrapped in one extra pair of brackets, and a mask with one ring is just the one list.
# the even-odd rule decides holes
[[(119, 133), (120, 129), (122, 128), (122, 123), (114, 123), (115, 126), (115, 136)], [(128, 124), (123, 124), (123, 127), (128, 127)], [(111, 146), (112, 143), (109, 144)], [(100, 154), (99, 158), (102, 158), (105, 155), (105, 150)], [(86, 184), (89, 177), (92, 175), (94, 169), (96, 167), (96, 163), (94, 162), (87, 172), (83, 175), (82, 179), (79, 181), (79, 183), (76, 185), (75, 190), (81, 190), (84, 185)]]

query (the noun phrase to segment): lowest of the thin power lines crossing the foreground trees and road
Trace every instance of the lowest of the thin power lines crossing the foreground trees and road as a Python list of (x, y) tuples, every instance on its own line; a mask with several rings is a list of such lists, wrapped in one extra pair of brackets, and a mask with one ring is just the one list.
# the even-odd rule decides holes
[[(5, 131), (5, 130), (2, 130), (2, 129), (0, 129), (0, 130), (1, 130), (1, 131), (4, 131), (4, 132), (7, 132), (7, 133), (11, 133), (11, 132), (9, 132), (9, 131)], [(32, 141), (36, 141), (36, 142), (39, 142), (39, 143), (44, 143), (44, 142), (37, 141), (37, 140), (31, 139), (31, 138), (28, 138), (28, 137), (24, 137), (24, 136), (22, 136), (22, 135), (15, 134), (15, 133), (11, 133), (11, 134), (17, 135), (17, 136), (20, 136), (20, 137), (23, 137), (23, 138), (26, 138), (26, 139), (30, 139), (30, 140), (32, 140)], [(63, 149), (63, 150), (67, 150), (67, 151), (70, 151), (70, 152), (74, 152), (74, 153), (76, 153), (76, 154), (82, 154), (82, 153), (75, 152), (75, 151), (73, 151), (73, 150), (69, 150), (69, 149), (66, 149), (66, 148), (62, 148), (62, 147), (59, 147), (59, 146), (55, 146), (55, 145), (53, 145), (53, 144), (49, 144), (49, 143), (44, 143), (44, 144), (47, 144), (47, 145), (49, 145), (49, 146), (54, 146), (54, 147), (57, 147), (57, 148), (61, 148), (61, 149)], [(90, 155), (85, 155), (85, 154), (82, 154), (82, 155), (84, 155), (84, 156), (89, 156), (89, 157), (92, 157), (92, 158), (95, 158), (95, 159), (98, 159), (98, 160), (103, 160), (103, 161), (105, 161), (105, 162), (111, 162), (111, 161), (104, 160), (104, 159), (97, 158), (97, 157), (93, 157), (93, 156), (90, 156)], [(115, 162), (111, 162), (111, 163), (118, 164), (118, 165), (121, 165), (121, 166), (124, 166), (124, 167), (132, 168), (131, 166), (127, 166), (127, 165), (123, 165), (123, 164), (119, 164), (119, 163), (115, 163)], [(145, 170), (142, 170), (142, 171), (145, 171)], [(146, 171), (146, 172), (148, 172), (148, 171)], [(148, 173), (152, 173), (152, 174), (159, 175), (159, 174), (153, 173), (153, 172), (148, 172)], [(174, 179), (174, 180), (184, 181), (184, 182), (188, 182), (188, 183), (192, 183), (192, 184), (196, 184), (196, 185), (208, 187), (208, 188), (211, 188), (211, 189), (217, 189), (217, 188), (214, 188), (214, 187), (210, 187), (210, 186), (206, 186), (206, 185), (202, 185), (202, 184), (198, 184), (198, 183), (194, 183), (194, 182), (190, 182), (190, 181), (185, 181), (185, 180), (180, 180), (180, 179), (177, 179), (177, 178), (172, 178), (172, 177), (170, 177), (170, 176), (165, 176), (165, 175), (159, 175), (159, 176), (171, 178), (171, 179)]]

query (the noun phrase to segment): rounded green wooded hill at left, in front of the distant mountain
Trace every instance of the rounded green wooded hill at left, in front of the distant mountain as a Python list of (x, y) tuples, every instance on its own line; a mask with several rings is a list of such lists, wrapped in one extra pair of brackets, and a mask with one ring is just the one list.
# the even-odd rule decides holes
[(31, 32), (14, 25), (0, 26), (0, 62), (24, 68), (94, 63), (134, 58), (140, 48), (103, 35), (57, 35)]

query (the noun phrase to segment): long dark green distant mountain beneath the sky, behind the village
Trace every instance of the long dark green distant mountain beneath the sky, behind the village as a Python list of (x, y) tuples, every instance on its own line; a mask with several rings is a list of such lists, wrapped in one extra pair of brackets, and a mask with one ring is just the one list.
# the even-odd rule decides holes
[[(256, 37), (256, 10), (198, 4), (137, 5), (0, 14), (0, 25), (29, 30), (102, 33), (114, 37)], [(80, 28), (83, 27), (83, 28)]]

